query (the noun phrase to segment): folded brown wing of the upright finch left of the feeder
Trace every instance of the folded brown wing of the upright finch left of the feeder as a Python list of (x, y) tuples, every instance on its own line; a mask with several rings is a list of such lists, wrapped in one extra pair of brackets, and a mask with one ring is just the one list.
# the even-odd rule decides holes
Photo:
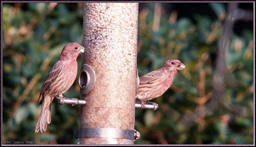
[[(44, 91), (50, 86), (50, 84), (56, 80), (56, 78), (60, 75), (62, 72), (64, 65), (63, 61), (58, 61), (55, 63), (55, 65), (52, 67), (52, 70), (49, 72), (48, 77), (44, 81), (44, 85), (41, 88), (39, 98), (37, 102), (39, 101), (41, 95), (44, 93)], [(40, 102), (41, 103), (41, 102)]]

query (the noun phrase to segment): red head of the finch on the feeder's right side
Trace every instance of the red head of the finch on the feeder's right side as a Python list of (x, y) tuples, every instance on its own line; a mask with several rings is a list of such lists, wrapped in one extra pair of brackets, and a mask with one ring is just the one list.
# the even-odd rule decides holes
[(180, 60), (173, 59), (165, 61), (163, 68), (167, 68), (168, 71), (181, 71), (184, 70), (185, 65)]

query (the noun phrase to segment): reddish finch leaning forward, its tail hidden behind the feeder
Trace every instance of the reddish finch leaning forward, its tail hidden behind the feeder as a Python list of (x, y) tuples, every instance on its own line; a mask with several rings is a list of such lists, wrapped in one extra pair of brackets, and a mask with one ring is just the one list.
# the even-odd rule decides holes
[(171, 87), (174, 76), (184, 68), (185, 65), (180, 60), (168, 60), (161, 68), (141, 76), (140, 86), (136, 94), (141, 108), (146, 108), (144, 102), (157, 105), (149, 100), (164, 94)]

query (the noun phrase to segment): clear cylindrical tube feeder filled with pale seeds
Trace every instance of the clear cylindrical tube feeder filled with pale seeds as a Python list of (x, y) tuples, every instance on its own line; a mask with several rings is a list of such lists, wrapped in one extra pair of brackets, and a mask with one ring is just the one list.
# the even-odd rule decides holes
[[(133, 144), (137, 32), (138, 3), (84, 3), (82, 64), (95, 83), (81, 95), (79, 144)], [(88, 79), (79, 79), (81, 91)]]

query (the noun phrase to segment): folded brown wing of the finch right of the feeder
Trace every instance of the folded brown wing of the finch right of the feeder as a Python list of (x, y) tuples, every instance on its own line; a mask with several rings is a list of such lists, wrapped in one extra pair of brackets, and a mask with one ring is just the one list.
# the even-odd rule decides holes
[(162, 76), (162, 72), (158, 72), (157, 70), (152, 71), (140, 77), (140, 85), (154, 83), (154, 81), (161, 78)]

